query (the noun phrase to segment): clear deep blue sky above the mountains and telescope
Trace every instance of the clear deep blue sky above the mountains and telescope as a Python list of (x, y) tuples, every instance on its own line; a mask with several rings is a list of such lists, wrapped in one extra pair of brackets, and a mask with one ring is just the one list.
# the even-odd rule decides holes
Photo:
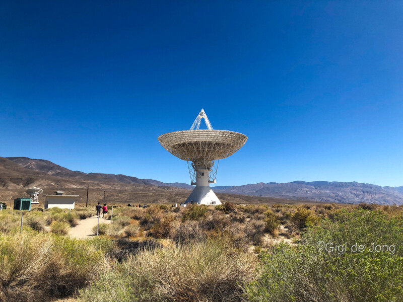
[(217, 185), (403, 185), (402, 2), (0, 8), (2, 157), (188, 183), (157, 137), (203, 107), (249, 137)]

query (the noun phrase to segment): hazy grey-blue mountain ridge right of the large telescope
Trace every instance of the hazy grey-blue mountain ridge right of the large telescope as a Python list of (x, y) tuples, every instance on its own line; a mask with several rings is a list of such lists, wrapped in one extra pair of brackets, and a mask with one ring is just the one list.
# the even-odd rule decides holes
[(403, 186), (381, 187), (358, 182), (294, 181), (217, 186), (215, 192), (338, 203), (403, 204)]

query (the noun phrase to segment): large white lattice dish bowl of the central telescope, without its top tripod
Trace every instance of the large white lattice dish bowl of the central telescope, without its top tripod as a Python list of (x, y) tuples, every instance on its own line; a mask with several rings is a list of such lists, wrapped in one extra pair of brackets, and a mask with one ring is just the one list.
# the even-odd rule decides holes
[(215, 161), (225, 159), (237, 152), (248, 137), (227, 130), (183, 130), (162, 134), (161, 145), (184, 161)]

